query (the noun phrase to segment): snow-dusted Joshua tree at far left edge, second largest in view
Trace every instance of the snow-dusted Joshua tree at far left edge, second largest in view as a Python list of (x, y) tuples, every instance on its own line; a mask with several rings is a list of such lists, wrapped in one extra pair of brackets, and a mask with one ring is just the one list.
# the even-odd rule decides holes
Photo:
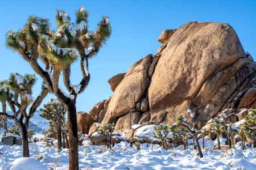
[[(23, 157), (30, 156), (27, 134), (30, 118), (34, 116), (36, 109), (48, 94), (48, 88), (42, 86), (39, 96), (34, 99), (32, 97), (32, 87), (35, 83), (36, 77), (34, 74), (25, 74), (23, 76), (19, 73), (11, 73), (9, 80), (0, 82), (0, 86), (5, 89), (1, 94), (1, 96), (5, 97), (1, 97), (3, 112), (0, 112), (0, 114), (6, 118), (13, 119), (22, 130)], [(13, 115), (6, 113), (6, 103), (9, 104)], [(30, 106), (29, 109), (28, 106)]]

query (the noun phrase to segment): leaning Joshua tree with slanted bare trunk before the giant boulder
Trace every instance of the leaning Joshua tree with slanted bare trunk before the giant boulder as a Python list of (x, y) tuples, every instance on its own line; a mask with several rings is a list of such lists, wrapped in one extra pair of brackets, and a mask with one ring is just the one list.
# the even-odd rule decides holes
[[(190, 112), (187, 112), (187, 116), (191, 115)], [(197, 145), (197, 150), (199, 152), (199, 156), (200, 158), (203, 158), (203, 153), (201, 151), (197, 136), (196, 136), (196, 129), (193, 129), (191, 126), (189, 126), (189, 122), (187, 121), (187, 118), (185, 118), (185, 116), (183, 114), (179, 114), (176, 117), (177, 120), (177, 124), (180, 126), (183, 126), (189, 133), (191, 133), (193, 135), (193, 139), (196, 141), (196, 145)]]

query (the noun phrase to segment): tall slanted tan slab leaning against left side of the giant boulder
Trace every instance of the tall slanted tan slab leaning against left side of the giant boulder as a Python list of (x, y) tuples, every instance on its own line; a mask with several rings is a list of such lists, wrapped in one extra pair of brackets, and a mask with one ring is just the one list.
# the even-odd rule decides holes
[(113, 117), (120, 117), (129, 113), (131, 109), (135, 109), (148, 86), (147, 70), (151, 59), (152, 54), (142, 58), (130, 67), (125, 78), (115, 89), (107, 113), (111, 113)]

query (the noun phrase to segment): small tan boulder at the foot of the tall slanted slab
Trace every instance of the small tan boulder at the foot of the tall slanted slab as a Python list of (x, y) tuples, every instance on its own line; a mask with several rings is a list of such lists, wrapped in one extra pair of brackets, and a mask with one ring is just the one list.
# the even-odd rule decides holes
[(128, 113), (125, 116), (119, 117), (117, 120), (117, 124), (115, 124), (115, 131), (120, 133), (127, 132), (131, 126), (138, 124), (140, 113), (132, 112)]

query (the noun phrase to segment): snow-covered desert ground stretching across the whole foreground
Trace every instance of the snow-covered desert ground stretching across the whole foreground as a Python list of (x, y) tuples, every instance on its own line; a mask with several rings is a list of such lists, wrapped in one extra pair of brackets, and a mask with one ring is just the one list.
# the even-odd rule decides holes
[[(129, 143), (121, 142), (109, 150), (105, 146), (92, 146), (89, 141), (85, 141), (79, 147), (80, 169), (256, 169), (256, 148), (242, 150), (237, 145), (236, 149), (228, 151), (212, 150), (214, 143), (206, 141), (204, 158), (199, 158), (197, 150), (191, 147), (183, 150), (183, 146), (179, 146), (166, 151), (159, 149), (158, 145), (154, 145), (151, 150), (150, 145), (143, 144), (138, 151), (131, 148)], [(14, 161), (22, 157), (22, 146), (0, 146), (0, 151), (3, 151), (0, 169), (17, 168)], [(58, 153), (56, 148), (46, 147), (43, 142), (30, 143), (30, 155), (31, 158), (41, 157), (41, 163), (48, 169), (68, 169), (67, 149)], [(26, 161), (26, 169), (30, 169), (31, 160)], [(16, 162), (22, 164), (21, 160)], [(33, 166), (31, 169), (36, 168)]]

